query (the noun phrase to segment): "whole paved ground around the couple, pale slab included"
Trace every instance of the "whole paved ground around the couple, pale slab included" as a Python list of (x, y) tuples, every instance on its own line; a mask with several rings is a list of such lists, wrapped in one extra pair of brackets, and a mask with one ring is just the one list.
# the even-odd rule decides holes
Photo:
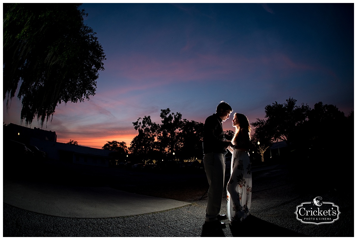
[[(230, 228), (228, 220), (224, 220), (227, 224), (226, 229), (207, 229), (203, 225), (207, 195), (202, 200), (188, 204), (125, 193), (106, 187), (95, 188), (94, 185), (85, 187), (82, 183), (80, 183), (82, 187), (75, 187), (73, 184), (66, 184), (67, 187), (58, 184), (55, 187), (54, 183), (36, 184), (36, 181), (32, 181), (31, 184), (24, 184), (20, 180), (8, 180), (4, 182), (3, 235), (5, 237), (226, 236), (240, 238), (354, 236), (353, 192), (342, 191), (343, 189), (326, 192), (318, 186), (314, 188), (310, 182), (307, 189), (302, 189), (297, 181), (292, 181), (294, 177), (285, 167), (265, 168), (265, 170), (260, 168), (260, 170), (258, 168), (253, 170), (255, 177), (250, 218), (247, 218), (238, 228)], [(147, 178), (145, 174), (139, 175), (144, 179)], [(138, 174), (135, 177), (138, 177)], [(173, 177), (177, 178), (177, 176)], [(42, 177), (40, 179), (42, 182), (45, 180)], [(132, 184), (131, 181), (126, 183)], [(80, 184), (77, 183), (77, 186)], [(333, 224), (320, 225), (304, 224), (296, 219), (294, 214), (296, 206), (317, 195), (340, 207), (340, 219)], [(11, 204), (6, 203), (10, 201)], [(15, 207), (14, 204), (21, 204), (21, 208)], [(221, 204), (221, 214), (225, 214), (227, 205), (225, 198), (222, 198)], [(167, 210), (160, 210), (165, 208)], [(63, 216), (69, 213), (70, 216), (74, 214), (76, 216), (61, 217), (58, 216), (59, 213)], [(90, 218), (88, 214), (102, 214), (101, 216), (104, 217), (98, 215), (99, 218)], [(113, 215), (118, 217), (109, 217)]]

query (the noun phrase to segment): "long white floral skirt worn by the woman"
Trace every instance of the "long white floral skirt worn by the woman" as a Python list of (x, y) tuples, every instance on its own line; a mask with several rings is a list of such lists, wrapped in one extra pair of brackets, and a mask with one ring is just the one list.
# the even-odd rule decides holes
[(249, 155), (245, 151), (233, 149), (231, 178), (227, 184), (228, 220), (230, 222), (243, 221), (250, 214), (251, 199), (252, 174)]

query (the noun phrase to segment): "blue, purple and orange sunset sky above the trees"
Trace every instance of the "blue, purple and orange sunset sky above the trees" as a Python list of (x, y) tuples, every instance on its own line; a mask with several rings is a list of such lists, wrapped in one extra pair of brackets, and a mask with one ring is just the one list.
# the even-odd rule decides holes
[[(160, 109), (204, 122), (220, 101), (250, 122), (289, 97), (354, 108), (351, 4), (83, 4), (106, 54), (96, 95), (60, 104), (43, 129), (101, 148)], [(20, 123), (19, 99), (3, 122)], [(25, 126), (25, 123), (22, 124)], [(31, 128), (41, 127), (36, 119)], [(230, 119), (224, 130), (234, 130)]]

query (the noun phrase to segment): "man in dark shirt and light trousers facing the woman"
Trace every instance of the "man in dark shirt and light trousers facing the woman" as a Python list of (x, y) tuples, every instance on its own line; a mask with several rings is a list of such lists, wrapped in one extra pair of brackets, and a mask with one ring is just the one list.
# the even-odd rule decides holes
[(206, 208), (206, 225), (225, 227), (221, 220), (226, 219), (227, 215), (220, 215), (222, 195), (224, 188), (225, 158), (227, 147), (230, 141), (224, 138), (222, 122), (226, 121), (232, 108), (226, 102), (218, 104), (216, 113), (207, 117), (203, 127), (203, 164), (207, 175), (208, 200)]

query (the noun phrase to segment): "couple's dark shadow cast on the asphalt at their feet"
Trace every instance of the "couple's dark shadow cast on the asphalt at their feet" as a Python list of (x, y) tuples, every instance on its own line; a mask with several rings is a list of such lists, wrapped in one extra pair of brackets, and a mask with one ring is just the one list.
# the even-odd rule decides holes
[[(230, 226), (226, 223), (226, 228), (230, 228), (233, 237), (303, 237), (306, 235), (296, 233), (292, 230), (282, 228), (269, 223), (255, 216), (249, 215), (237, 226)], [(225, 237), (222, 229), (202, 227), (202, 237)]]

